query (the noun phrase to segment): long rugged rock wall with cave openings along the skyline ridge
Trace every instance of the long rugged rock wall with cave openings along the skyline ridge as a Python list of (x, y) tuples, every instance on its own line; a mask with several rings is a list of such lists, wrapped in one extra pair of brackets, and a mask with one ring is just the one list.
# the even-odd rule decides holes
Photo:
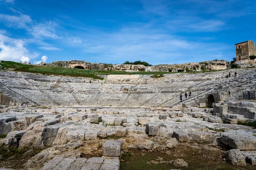
[(165, 71), (165, 72), (186, 72), (201, 70), (225, 70), (229, 62), (224, 60), (205, 61), (199, 63), (171, 64), (171, 65), (129, 65), (129, 64), (102, 64), (91, 63), (79, 60), (55, 61), (52, 63), (41, 63), (40, 65), (50, 65), (64, 68), (81, 68), (86, 70), (112, 70), (112, 71)]

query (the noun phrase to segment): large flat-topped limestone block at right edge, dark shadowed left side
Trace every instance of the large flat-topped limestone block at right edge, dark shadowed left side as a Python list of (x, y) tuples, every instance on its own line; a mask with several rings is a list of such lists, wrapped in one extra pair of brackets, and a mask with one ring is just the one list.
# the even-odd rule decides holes
[(240, 150), (256, 150), (256, 136), (244, 130), (228, 130), (221, 133), (221, 143)]

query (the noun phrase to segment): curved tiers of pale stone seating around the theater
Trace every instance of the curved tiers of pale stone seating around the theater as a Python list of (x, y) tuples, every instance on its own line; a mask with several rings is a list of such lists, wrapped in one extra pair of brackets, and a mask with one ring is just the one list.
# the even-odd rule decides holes
[[(180, 103), (179, 94), (192, 91), (189, 102), (209, 91), (227, 90), (255, 79), (255, 68), (235, 70), (237, 79), (224, 78), (228, 71), (200, 74), (168, 74), (159, 79), (140, 75), (129, 82), (105, 78), (71, 78), (42, 76), (40, 74), (0, 71), (0, 91), (22, 105), (115, 105), (115, 106), (161, 106), (172, 107)], [(91, 80), (92, 83), (89, 83)], [(145, 83), (145, 80), (147, 82)], [(136, 84), (137, 81), (137, 84)]]

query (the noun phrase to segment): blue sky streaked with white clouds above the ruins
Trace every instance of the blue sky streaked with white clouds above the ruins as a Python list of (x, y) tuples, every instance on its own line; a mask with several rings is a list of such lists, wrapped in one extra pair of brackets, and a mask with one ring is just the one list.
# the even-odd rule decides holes
[(0, 0), (0, 59), (152, 65), (231, 61), (256, 0)]

